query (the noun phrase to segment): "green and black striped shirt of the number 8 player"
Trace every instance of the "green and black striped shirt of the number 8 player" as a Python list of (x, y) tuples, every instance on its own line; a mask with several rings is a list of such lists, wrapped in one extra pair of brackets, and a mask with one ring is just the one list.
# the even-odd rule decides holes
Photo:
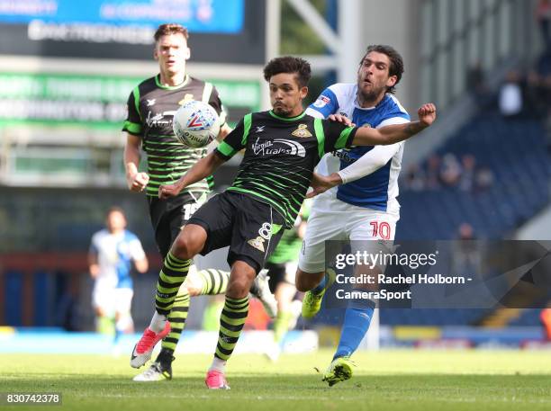
[(247, 114), (215, 153), (229, 159), (242, 148), (239, 174), (228, 188), (270, 204), (292, 228), (321, 156), (350, 147), (356, 129), (305, 114)]

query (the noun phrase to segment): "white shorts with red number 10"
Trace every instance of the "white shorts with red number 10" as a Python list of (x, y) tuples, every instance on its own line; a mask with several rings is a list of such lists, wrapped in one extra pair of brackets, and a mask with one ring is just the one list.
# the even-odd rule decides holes
[[(357, 207), (337, 200), (332, 192), (325, 192), (312, 204), (299, 268), (305, 273), (325, 271), (325, 241), (328, 240), (392, 242), (398, 219), (398, 213)], [(387, 247), (388, 243), (384, 242), (381, 249)]]

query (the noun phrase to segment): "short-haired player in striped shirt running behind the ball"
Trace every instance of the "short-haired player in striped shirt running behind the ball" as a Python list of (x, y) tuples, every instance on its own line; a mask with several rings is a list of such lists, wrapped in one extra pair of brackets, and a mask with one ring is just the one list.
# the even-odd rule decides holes
[[(185, 222), (206, 201), (212, 183), (212, 176), (208, 176), (171, 199), (158, 199), (158, 187), (161, 184), (175, 182), (207, 155), (206, 147), (187, 148), (176, 140), (172, 130), (174, 113), (185, 101), (203, 101), (211, 104), (220, 115), (222, 126), (218, 138), (224, 138), (231, 130), (225, 123), (221, 100), (214, 86), (185, 73), (185, 61), (190, 56), (187, 38), (187, 30), (179, 24), (162, 24), (158, 27), (155, 32), (154, 57), (158, 60), (159, 74), (141, 82), (131, 92), (128, 118), (123, 126), (128, 134), (124, 149), (128, 186), (131, 191), (145, 190), (147, 194), (155, 240), (163, 259)], [(141, 146), (148, 155), (148, 173), (138, 171)], [(190, 296), (223, 293), (229, 278), (230, 273), (220, 270), (192, 271), (188, 281), (178, 290), (177, 295), (175, 293), (176, 302), (170, 317), (172, 329), (163, 340), (157, 361), (134, 380), (171, 378), (173, 353), (185, 326)], [(256, 291), (260, 291), (258, 287)]]

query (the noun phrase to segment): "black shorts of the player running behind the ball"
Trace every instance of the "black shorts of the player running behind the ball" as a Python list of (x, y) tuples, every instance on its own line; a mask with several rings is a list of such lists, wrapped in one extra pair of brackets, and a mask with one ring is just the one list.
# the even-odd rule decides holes
[(155, 242), (163, 259), (170, 251), (170, 247), (180, 234), (182, 227), (203, 204), (204, 195), (202, 192), (193, 194), (185, 192), (167, 200), (147, 197), (149, 218), (153, 231), (155, 231)]

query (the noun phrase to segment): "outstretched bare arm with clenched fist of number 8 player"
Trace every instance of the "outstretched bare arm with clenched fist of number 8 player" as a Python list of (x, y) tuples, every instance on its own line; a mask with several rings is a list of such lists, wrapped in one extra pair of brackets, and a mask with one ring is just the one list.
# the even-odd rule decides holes
[(433, 103), (423, 104), (418, 110), (419, 121), (405, 124), (394, 124), (371, 129), (360, 127), (352, 140), (353, 146), (379, 146), (399, 143), (425, 130), (436, 120), (436, 106)]

